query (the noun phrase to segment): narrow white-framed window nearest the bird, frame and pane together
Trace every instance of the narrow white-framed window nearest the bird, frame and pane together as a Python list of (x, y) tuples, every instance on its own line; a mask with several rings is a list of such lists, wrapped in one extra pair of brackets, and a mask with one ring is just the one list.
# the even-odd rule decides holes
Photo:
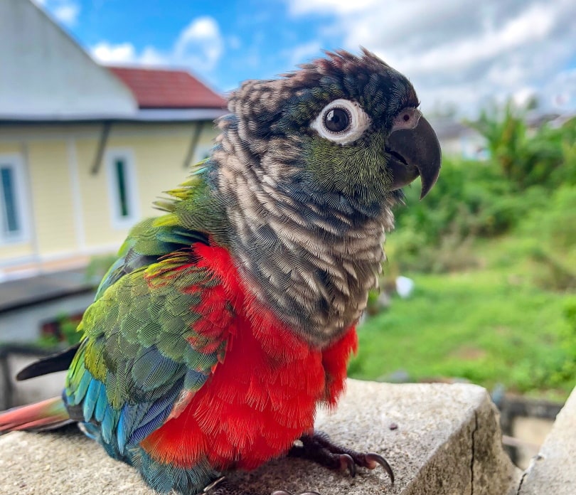
[(130, 150), (110, 150), (107, 153), (107, 174), (110, 188), (112, 226), (124, 229), (139, 218), (136, 171)]

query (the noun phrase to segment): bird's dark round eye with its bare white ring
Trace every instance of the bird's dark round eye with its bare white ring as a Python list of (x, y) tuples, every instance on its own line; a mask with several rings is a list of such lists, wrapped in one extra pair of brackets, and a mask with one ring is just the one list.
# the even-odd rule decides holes
[(349, 144), (370, 127), (370, 117), (358, 103), (340, 98), (326, 105), (310, 127), (331, 142)]

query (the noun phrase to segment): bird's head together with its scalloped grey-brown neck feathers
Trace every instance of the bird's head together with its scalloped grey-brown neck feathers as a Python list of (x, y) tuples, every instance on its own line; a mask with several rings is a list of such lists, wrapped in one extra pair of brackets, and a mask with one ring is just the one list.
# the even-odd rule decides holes
[(372, 53), (345, 51), (230, 95), (208, 161), (240, 276), (316, 346), (366, 308), (384, 259), (390, 206), (441, 154), (414, 88)]

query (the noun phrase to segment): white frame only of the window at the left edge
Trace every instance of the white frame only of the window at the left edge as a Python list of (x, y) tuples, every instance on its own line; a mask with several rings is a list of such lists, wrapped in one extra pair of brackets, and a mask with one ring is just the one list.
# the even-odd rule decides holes
[(28, 205), (26, 204), (26, 174), (24, 174), (24, 162), (18, 154), (0, 154), (0, 169), (7, 166), (13, 171), (14, 177), (14, 203), (16, 207), (16, 221), (19, 229), (17, 232), (6, 232), (6, 203), (4, 201), (4, 188), (0, 176), (0, 245), (23, 243), (30, 237), (30, 220)]

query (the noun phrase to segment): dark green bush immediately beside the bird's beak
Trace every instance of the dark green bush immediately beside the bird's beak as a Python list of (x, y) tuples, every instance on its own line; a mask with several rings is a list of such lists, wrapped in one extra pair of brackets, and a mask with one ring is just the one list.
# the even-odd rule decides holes
[(529, 208), (489, 164), (449, 159), (425, 201), (415, 187), (407, 189), (406, 203), (395, 212), (390, 245), (402, 270), (420, 272), (475, 267), (470, 243), (505, 233)]

